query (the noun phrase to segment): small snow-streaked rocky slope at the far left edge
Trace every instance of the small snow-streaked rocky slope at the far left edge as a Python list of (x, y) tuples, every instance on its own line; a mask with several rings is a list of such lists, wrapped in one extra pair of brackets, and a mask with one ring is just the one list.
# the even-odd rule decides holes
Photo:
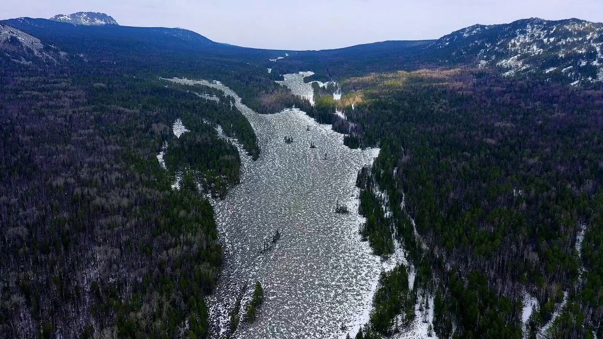
[(1, 54), (12, 62), (22, 64), (56, 62), (65, 57), (65, 53), (43, 44), (37, 37), (4, 24), (0, 24)]

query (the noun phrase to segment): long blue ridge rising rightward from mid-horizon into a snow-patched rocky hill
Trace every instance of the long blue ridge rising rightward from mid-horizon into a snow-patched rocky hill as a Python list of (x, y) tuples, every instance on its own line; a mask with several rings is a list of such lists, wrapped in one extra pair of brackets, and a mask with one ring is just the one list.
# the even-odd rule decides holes
[[(603, 24), (567, 19), (522, 19), (510, 24), (473, 25), (437, 40), (379, 42), (348, 48), (305, 51), (279, 60), (276, 72), (301, 61), (320, 77), (368, 72), (471, 66), (506, 76), (529, 75), (564, 84), (603, 81)], [(291, 71), (287, 68), (286, 71)]]

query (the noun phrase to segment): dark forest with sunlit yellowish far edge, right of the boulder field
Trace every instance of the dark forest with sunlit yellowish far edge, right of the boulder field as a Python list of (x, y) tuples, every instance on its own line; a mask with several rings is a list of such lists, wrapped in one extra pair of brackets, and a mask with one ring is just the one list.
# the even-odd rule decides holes
[[(383, 256), (393, 253), (391, 234), (405, 246), (418, 267), (415, 288), (435, 292), (438, 337), (521, 337), (527, 295), (540, 305), (529, 317), (534, 336), (564, 293), (569, 301), (552, 337), (601, 335), (601, 88), (471, 69), (342, 84), (347, 100), (361, 101), (346, 109), (353, 123), (348, 140), (381, 147), (359, 176), (368, 217), (363, 234)], [(401, 279), (396, 273), (383, 279), (383, 293), (406, 293), (388, 287)], [(409, 297), (414, 305), (416, 294)], [(384, 311), (384, 305), (395, 300), (375, 300), (381, 306), (369, 337), (371, 329), (391, 334), (384, 318), (393, 320), (403, 308)]]

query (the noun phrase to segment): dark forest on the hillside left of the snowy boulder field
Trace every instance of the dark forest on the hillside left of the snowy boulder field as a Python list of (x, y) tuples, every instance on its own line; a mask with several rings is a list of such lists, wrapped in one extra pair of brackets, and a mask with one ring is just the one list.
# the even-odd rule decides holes
[(85, 66), (0, 68), (0, 337), (203, 338), (221, 249), (201, 193), (240, 163), (215, 126), (257, 156), (253, 130), (224, 97)]

